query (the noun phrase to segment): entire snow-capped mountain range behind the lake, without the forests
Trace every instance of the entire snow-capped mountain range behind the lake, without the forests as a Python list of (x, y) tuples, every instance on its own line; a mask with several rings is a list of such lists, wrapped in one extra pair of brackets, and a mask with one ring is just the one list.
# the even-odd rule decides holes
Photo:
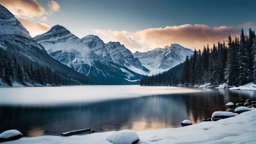
[[(168, 70), (193, 53), (178, 44), (132, 53), (119, 42), (104, 43), (98, 36), (88, 35), (79, 39), (61, 25), (31, 38), (5, 7), (1, 6), (0, 12), (1, 41), (12, 47), (21, 47), (20, 51), (12, 49), (12, 53), (17, 57), (26, 57), (37, 65), (47, 65), (68, 79), (74, 80), (72, 74), (78, 74), (76, 77), (82, 76), (86, 79), (84, 83), (88, 84), (139, 84), (141, 76)], [(1, 48), (6, 48), (6, 44), (2, 44)], [(83, 84), (82, 81), (75, 81)]]

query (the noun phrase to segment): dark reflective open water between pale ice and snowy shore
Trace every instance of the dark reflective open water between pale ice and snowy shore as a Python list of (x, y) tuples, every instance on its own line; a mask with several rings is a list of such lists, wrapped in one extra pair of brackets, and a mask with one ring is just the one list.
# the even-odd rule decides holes
[[(0, 132), (17, 129), (25, 137), (36, 137), (60, 135), (61, 132), (83, 128), (96, 129), (96, 132), (177, 128), (185, 119), (200, 123), (202, 119), (211, 117), (214, 111), (225, 110), (224, 105), (228, 102), (256, 98), (255, 91), (195, 89), (200, 92), (154, 94), (94, 102), (81, 100), (51, 105), (26, 102), (8, 104), (0, 100)], [(0, 88), (0, 94), (3, 95), (3, 91)], [(26, 92), (30, 93), (29, 90)], [(17, 92), (14, 94), (19, 95)], [(12, 97), (12, 101), (15, 101), (15, 97)]]

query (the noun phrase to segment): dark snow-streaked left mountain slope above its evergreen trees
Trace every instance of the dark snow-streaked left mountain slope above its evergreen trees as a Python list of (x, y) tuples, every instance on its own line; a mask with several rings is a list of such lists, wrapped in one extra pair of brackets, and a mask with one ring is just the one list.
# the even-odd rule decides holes
[[(69, 84), (87, 84), (88, 79), (80, 73), (68, 68), (48, 55), (45, 48), (37, 43), (23, 25), (0, 4), (0, 49), (9, 58), (15, 58), (21, 65), (33, 64), (34, 67), (51, 68), (58, 76)], [(1, 55), (2, 56), (2, 55)], [(9, 60), (10, 65), (14, 61)], [(5, 59), (5, 63), (8, 61)], [(13, 75), (16, 71), (12, 70)], [(16, 77), (12, 77), (16, 80)], [(28, 77), (26, 79), (29, 79)], [(29, 80), (27, 80), (28, 82)]]

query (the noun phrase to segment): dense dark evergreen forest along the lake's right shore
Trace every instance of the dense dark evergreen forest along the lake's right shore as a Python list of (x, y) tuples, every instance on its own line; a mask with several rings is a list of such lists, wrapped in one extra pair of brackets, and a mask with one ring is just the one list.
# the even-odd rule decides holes
[[(182, 67), (182, 68), (180, 68)], [(194, 51), (185, 62), (168, 71), (141, 78), (141, 85), (212, 85), (227, 83), (241, 86), (256, 83), (256, 37), (241, 30), (240, 38), (228, 37), (228, 44), (218, 42), (212, 48)]]

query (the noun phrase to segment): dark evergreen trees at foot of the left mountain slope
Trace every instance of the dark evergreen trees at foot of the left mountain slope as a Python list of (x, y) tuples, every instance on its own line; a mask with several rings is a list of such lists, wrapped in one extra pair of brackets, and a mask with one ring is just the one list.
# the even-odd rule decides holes
[[(20, 55), (22, 49), (18, 45), (12, 45), (6, 41), (0, 43), (0, 85), (7, 83), (7, 85), (12, 86), (13, 82), (18, 82), (24, 86), (80, 85), (79, 81), (68, 79), (68, 76), (53, 70), (47, 64)], [(85, 82), (82, 84), (88, 83), (88, 80), (83, 76), (78, 76), (76, 79)]]

